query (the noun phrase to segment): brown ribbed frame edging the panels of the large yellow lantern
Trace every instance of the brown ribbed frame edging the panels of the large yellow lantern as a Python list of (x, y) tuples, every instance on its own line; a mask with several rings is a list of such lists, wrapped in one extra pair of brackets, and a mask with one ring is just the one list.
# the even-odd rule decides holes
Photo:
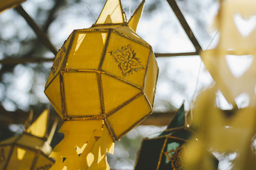
[[(104, 27), (108, 27), (108, 26), (116, 26), (116, 27), (104, 28)], [(122, 32), (118, 32), (118, 31), (115, 30), (115, 28), (117, 28), (117, 27), (124, 27), (124, 26), (128, 27), (128, 22), (124, 22), (122, 24), (93, 24), (92, 27), (89, 28), (89, 29), (76, 29), (76, 30), (74, 30), (70, 34), (70, 36), (68, 36), (68, 38), (67, 38), (67, 40), (70, 39), (70, 41), (68, 42), (67, 49), (65, 47), (65, 43), (63, 43), (63, 46), (58, 51), (58, 54), (56, 55), (56, 58), (54, 60), (54, 64), (56, 64), (56, 66), (54, 66), (54, 64), (53, 64), (52, 68), (55, 69), (54, 67), (56, 67), (56, 69), (58, 69), (58, 67), (59, 67), (59, 69), (56, 73), (54, 73), (54, 76), (52, 76), (51, 81), (49, 81), (49, 83), (47, 83), (45, 85), (45, 90), (44, 90), (45, 96), (47, 96), (47, 98), (51, 102), (52, 106), (54, 106), (54, 109), (58, 112), (58, 114), (61, 116), (61, 118), (63, 118), (64, 121), (70, 121), (70, 120), (104, 120), (104, 123), (108, 127), (109, 134), (111, 135), (111, 137), (113, 138), (114, 141), (122, 138), (122, 136), (127, 134), (127, 132), (131, 131), (132, 128), (136, 127), (136, 125), (140, 124), (145, 118), (147, 118), (150, 114), (152, 114), (153, 105), (154, 105), (154, 97), (155, 97), (155, 94), (156, 94), (156, 90), (154, 90), (153, 101), (152, 101), (152, 104), (150, 104), (150, 101), (148, 101), (147, 95), (145, 94), (145, 91), (144, 91), (145, 83), (146, 83), (146, 80), (147, 80), (146, 76), (147, 76), (147, 73), (148, 73), (148, 66), (150, 64), (150, 59), (156, 61), (156, 57), (154, 56), (154, 53), (152, 52), (152, 46), (150, 46), (142, 38), (140, 38), (141, 41), (139, 41), (138, 39), (126, 36)], [(131, 31), (132, 31), (132, 29), (131, 29)], [(104, 48), (102, 50), (102, 54), (101, 54), (100, 61), (99, 61), (99, 66), (98, 66), (97, 69), (68, 69), (68, 68), (66, 68), (68, 55), (70, 54), (72, 44), (74, 43), (75, 35), (77, 33), (79, 34), (81, 32), (82, 33), (99, 32), (99, 33), (106, 33), (107, 34), (106, 43), (104, 44)], [(108, 71), (104, 71), (102, 69), (102, 64), (103, 64), (104, 58), (106, 56), (106, 52), (107, 52), (107, 48), (108, 48), (109, 39), (110, 39), (111, 34), (117, 34), (119, 36), (122, 36), (123, 38), (129, 39), (134, 43), (138, 43), (139, 45), (142, 45), (142, 46), (146, 47), (149, 50), (148, 59), (147, 59), (147, 66), (145, 67), (145, 74), (143, 76), (143, 86), (142, 87), (140, 87), (139, 85), (136, 85), (135, 83), (132, 83), (128, 80), (125, 80), (125, 78), (121, 78), (119, 76), (116, 76), (115, 74), (109, 73)], [(136, 34), (136, 36), (138, 36), (138, 35)], [(61, 53), (61, 52), (65, 52), (65, 55), (63, 55), (63, 53)], [(58, 60), (59, 57), (60, 57), (60, 59), (63, 59), (63, 62), (61, 64), (61, 66), (60, 66), (61, 60)], [(157, 66), (157, 64), (156, 64), (156, 66)], [(68, 115), (68, 113), (67, 113), (67, 104), (66, 104), (67, 101), (65, 99), (65, 87), (64, 87), (64, 81), (63, 81), (63, 75), (65, 73), (74, 73), (74, 72), (76, 72), (76, 73), (96, 73), (97, 83), (99, 85), (99, 94), (100, 94), (100, 107), (101, 107), (100, 115), (84, 115), (83, 117)], [(158, 73), (159, 73), (159, 67), (157, 66), (156, 83), (154, 84), (154, 87), (156, 87), (156, 84), (157, 84)], [(50, 74), (52, 74), (52, 71), (51, 71)], [(140, 93), (138, 93), (134, 97), (131, 97), (130, 99), (125, 101), (125, 103), (121, 104), (120, 106), (117, 106), (114, 110), (109, 111), (109, 113), (106, 113), (105, 110), (104, 110), (104, 96), (103, 96), (103, 90), (102, 90), (101, 74), (107, 74), (108, 76), (111, 76), (112, 78), (115, 78), (116, 80), (127, 83), (127, 84), (135, 87), (136, 89), (139, 89)], [(51, 85), (52, 81), (54, 81), (55, 78), (57, 78), (58, 76), (60, 77), (59, 81), (60, 81), (60, 93), (61, 93), (61, 111), (58, 110), (58, 107), (51, 100), (51, 97), (49, 97), (47, 95), (47, 93), (45, 92), (47, 90), (47, 88)], [(134, 101), (135, 99), (137, 99), (138, 97), (141, 97), (141, 96), (145, 97), (145, 100), (147, 101), (148, 106), (150, 107), (149, 113), (147, 113), (144, 117), (140, 118), (140, 120), (137, 120), (134, 124), (129, 126), (128, 129), (126, 129), (124, 132), (122, 132), (122, 134), (117, 136), (115, 134), (114, 130), (113, 130), (113, 127), (112, 127), (111, 123), (108, 121), (108, 117), (110, 117), (111, 115), (116, 113), (116, 111), (120, 110), (120, 108), (124, 108), (124, 106), (126, 106), (127, 104), (131, 103), (132, 101)]]

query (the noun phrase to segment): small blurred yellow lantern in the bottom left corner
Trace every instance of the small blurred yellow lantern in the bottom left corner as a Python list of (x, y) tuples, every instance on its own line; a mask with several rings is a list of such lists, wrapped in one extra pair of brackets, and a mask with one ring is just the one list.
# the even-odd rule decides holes
[(54, 160), (49, 159), (48, 117), (45, 110), (22, 134), (0, 142), (0, 169), (50, 169)]

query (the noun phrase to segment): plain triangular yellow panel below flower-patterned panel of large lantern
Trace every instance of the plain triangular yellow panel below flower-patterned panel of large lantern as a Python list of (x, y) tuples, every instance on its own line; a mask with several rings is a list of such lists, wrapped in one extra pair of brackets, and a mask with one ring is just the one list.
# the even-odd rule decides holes
[(141, 90), (124, 81), (107, 74), (102, 74), (102, 90), (104, 96), (105, 113), (120, 107), (128, 102), (132, 97), (138, 95)]

